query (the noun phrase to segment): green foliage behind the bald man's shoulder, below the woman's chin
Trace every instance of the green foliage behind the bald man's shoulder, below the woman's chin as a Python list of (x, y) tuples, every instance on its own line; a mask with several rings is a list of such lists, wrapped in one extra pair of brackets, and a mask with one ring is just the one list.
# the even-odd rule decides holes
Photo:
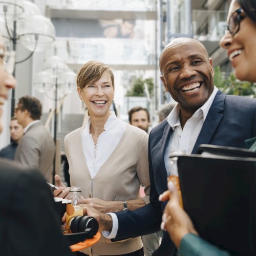
[(256, 97), (256, 83), (240, 81), (233, 73), (231, 73), (227, 78), (224, 78), (219, 66), (217, 66), (214, 71), (215, 86), (223, 93), (229, 95), (250, 96), (253, 98)]

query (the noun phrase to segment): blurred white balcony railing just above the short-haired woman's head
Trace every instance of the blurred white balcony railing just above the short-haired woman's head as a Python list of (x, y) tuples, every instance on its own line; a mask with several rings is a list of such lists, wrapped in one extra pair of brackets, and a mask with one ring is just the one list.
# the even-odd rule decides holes
[(155, 42), (123, 38), (56, 38), (45, 55), (57, 55), (67, 63), (100, 60), (108, 65), (154, 65)]

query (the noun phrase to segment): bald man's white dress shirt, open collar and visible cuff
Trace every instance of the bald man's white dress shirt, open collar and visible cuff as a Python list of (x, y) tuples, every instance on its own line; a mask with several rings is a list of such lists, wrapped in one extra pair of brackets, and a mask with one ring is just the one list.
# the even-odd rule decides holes
[[(217, 87), (214, 87), (210, 97), (207, 101), (199, 108), (193, 116), (191, 116), (185, 123), (183, 130), (180, 124), (180, 108), (177, 104), (172, 112), (167, 116), (167, 122), (172, 127), (174, 132), (170, 135), (168, 145), (164, 153), (164, 164), (166, 170), (169, 169), (169, 155), (170, 152), (174, 151), (185, 151), (186, 154), (191, 154), (198, 135), (203, 127), (204, 120), (209, 112), (210, 106), (214, 101), (214, 98), (218, 92)], [(113, 213), (110, 213), (113, 221), (113, 228), (111, 232), (103, 231), (103, 235), (106, 238), (113, 239), (116, 237), (118, 230), (118, 219)]]

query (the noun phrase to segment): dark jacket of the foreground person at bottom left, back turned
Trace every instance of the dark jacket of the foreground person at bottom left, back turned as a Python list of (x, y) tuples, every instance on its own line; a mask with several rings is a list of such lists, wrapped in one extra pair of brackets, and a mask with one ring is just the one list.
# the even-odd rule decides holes
[(5, 159), (0, 159), (0, 248), (5, 256), (73, 255), (44, 178)]

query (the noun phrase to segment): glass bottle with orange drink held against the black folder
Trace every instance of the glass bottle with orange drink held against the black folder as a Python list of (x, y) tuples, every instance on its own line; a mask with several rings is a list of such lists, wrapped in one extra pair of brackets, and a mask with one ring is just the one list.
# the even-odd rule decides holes
[(179, 180), (179, 173), (178, 173), (178, 156), (185, 155), (185, 151), (175, 151), (170, 153), (170, 164), (169, 164), (169, 169), (167, 170), (167, 181), (172, 181), (174, 185), (178, 189), (179, 193), (179, 198), (180, 198), (180, 205), (183, 208), (183, 203), (182, 203), (182, 196), (181, 196), (181, 190), (180, 190), (180, 180)]

